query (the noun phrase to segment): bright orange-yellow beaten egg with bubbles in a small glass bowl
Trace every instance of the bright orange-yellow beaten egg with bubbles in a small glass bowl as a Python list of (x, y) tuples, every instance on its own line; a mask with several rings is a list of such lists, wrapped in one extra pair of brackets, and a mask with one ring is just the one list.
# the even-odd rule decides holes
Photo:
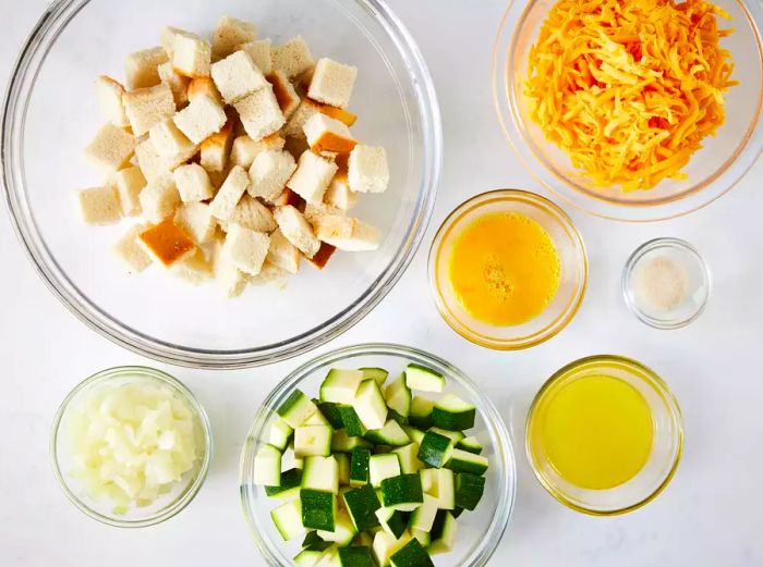
[(540, 315), (559, 286), (554, 242), (536, 221), (517, 212), (480, 217), (458, 236), (448, 278), (461, 306), (496, 326)]

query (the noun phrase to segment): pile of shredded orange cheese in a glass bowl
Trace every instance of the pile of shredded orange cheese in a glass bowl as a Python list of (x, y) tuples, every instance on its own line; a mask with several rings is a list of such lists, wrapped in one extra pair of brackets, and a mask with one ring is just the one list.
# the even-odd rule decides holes
[(559, 0), (530, 52), (532, 120), (596, 186), (686, 178), (737, 83), (716, 16), (704, 0)]

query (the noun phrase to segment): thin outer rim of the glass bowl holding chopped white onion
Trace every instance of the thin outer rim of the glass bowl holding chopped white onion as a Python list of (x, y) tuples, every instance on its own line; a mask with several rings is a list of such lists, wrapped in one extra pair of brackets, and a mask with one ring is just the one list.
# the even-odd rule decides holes
[[(101, 514), (93, 509), (87, 504), (85, 504), (82, 501), (82, 498), (74, 494), (74, 492), (72, 492), (72, 490), (69, 488), (69, 483), (64, 480), (65, 472), (61, 470), (58, 458), (57, 442), (60, 433), (59, 429), (62, 419), (66, 414), (66, 409), (69, 409), (70, 403), (74, 398), (76, 398), (77, 395), (85, 392), (89, 387), (95, 386), (100, 382), (108, 382), (110, 380), (122, 378), (124, 375), (140, 375), (142, 378), (152, 381), (158, 381), (170, 386), (175, 393), (183, 397), (185, 402), (189, 403), (189, 406), (195, 415), (195, 417), (198, 419), (198, 422), (202, 427), (202, 431), (204, 433), (204, 456), (199, 464), (198, 471), (196, 472), (193, 479), (193, 482), (189, 484), (187, 489), (182, 494), (182, 497), (180, 497), (171, 506), (161, 508), (150, 516), (135, 520), (121, 520), (117, 516)], [(61, 402), (61, 404), (58, 407), (58, 410), (56, 411), (53, 424), (50, 431), (49, 443), (50, 460), (52, 463), (53, 474), (56, 476), (56, 480), (58, 480), (58, 483), (61, 486), (61, 490), (63, 491), (66, 498), (69, 498), (69, 501), (85, 515), (89, 516), (95, 520), (98, 520), (101, 523), (106, 523), (107, 526), (113, 526), (116, 528), (146, 528), (149, 526), (156, 526), (157, 523), (161, 523), (185, 509), (185, 507), (189, 504), (191, 504), (198, 491), (202, 489), (202, 485), (204, 484), (204, 481), (207, 478), (207, 473), (209, 471), (209, 464), (211, 463), (213, 451), (214, 442), (209, 417), (207, 416), (204, 406), (202, 406), (194, 393), (191, 392), (191, 390), (177, 378), (168, 374), (162, 370), (145, 366), (118, 366), (107, 368), (87, 377), (85, 380), (75, 385), (71, 390), (71, 392), (66, 394), (66, 397), (63, 398), (63, 402)]]

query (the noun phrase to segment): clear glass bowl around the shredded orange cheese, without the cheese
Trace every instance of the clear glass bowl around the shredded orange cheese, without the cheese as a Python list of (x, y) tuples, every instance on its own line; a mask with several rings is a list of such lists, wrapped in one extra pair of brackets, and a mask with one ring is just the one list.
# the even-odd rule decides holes
[(592, 186), (569, 158), (545, 139), (523, 96), (528, 58), (555, 0), (511, 0), (493, 52), (493, 94), (500, 124), (514, 151), (549, 190), (598, 217), (644, 222), (687, 214), (728, 192), (763, 149), (763, 4), (759, 0), (713, 0), (731, 15), (723, 40), (740, 81), (726, 94), (726, 123), (683, 169), (687, 181), (665, 180), (646, 192)]

